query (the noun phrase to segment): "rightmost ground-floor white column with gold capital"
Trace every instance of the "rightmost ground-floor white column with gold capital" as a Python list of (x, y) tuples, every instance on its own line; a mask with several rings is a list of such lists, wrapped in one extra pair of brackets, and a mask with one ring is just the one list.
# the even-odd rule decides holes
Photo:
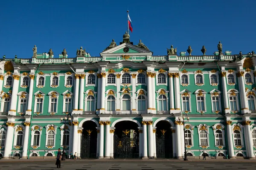
[(247, 153), (247, 157), (249, 157), (249, 159), (251, 158), (255, 158), (254, 157), (254, 152), (253, 152), (253, 139), (252, 139), (252, 134), (250, 131), (250, 123), (251, 121), (244, 121), (244, 129), (245, 129), (245, 134), (246, 134), (246, 142), (247, 142), (247, 146), (246, 146), (246, 153)]

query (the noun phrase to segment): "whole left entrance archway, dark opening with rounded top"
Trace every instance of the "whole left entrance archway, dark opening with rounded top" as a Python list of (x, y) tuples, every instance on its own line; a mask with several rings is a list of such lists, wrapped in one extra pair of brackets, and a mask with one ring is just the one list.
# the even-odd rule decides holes
[(83, 124), (81, 134), (81, 153), (80, 157), (89, 159), (97, 158), (97, 125), (93, 121), (86, 121)]

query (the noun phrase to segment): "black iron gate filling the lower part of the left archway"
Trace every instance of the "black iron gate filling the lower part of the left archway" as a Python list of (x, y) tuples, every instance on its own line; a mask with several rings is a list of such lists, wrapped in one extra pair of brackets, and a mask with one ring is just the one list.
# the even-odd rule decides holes
[(81, 135), (81, 158), (97, 158), (96, 147), (97, 138), (95, 139), (93, 136), (90, 136), (89, 134)]

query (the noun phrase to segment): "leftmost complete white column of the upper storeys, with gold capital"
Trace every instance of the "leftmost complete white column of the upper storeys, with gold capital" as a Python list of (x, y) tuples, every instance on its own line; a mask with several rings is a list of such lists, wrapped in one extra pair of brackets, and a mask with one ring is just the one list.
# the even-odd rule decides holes
[(15, 115), (16, 114), (19, 80), (20, 80), (19, 75), (13, 75), (12, 99), (11, 99), (10, 111), (8, 113), (9, 115)]

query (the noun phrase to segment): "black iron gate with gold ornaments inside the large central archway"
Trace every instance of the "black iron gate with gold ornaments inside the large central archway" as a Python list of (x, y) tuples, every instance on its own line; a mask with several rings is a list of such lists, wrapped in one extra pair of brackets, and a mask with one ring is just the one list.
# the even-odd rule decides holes
[(130, 131), (123, 131), (122, 137), (114, 136), (114, 158), (139, 158), (139, 139)]

